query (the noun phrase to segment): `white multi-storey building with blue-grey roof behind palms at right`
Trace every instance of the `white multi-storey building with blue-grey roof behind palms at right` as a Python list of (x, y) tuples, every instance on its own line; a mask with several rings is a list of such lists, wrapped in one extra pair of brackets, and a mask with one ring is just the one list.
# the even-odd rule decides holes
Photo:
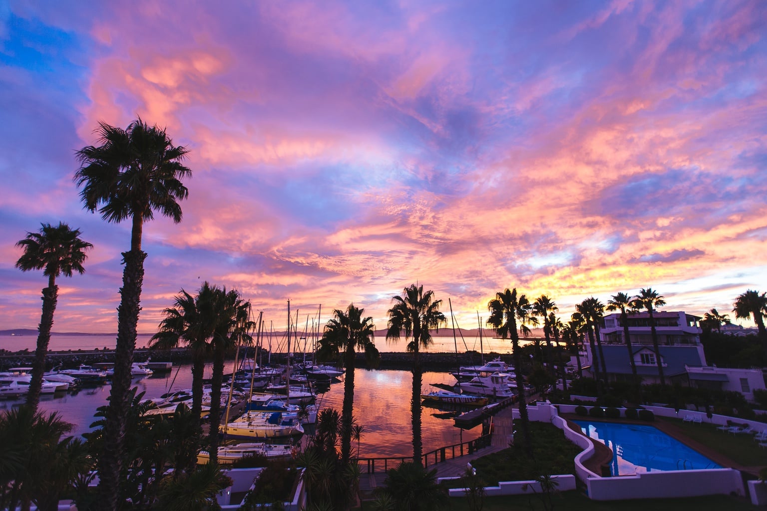
[[(624, 342), (624, 327), (621, 314), (604, 316), (599, 336), (602, 342), (607, 378), (611, 381), (630, 381), (631, 363), (634, 359), (637, 374), (645, 385), (660, 383), (657, 355), (663, 366), (663, 375), (667, 384), (690, 385), (693, 387), (713, 388), (725, 391), (741, 392), (749, 401), (753, 400), (753, 391), (765, 388), (760, 369), (726, 369), (709, 367), (706, 355), (700, 343), (700, 316), (684, 312), (658, 311), (653, 313), (657, 332), (659, 353), (653, 348), (650, 328), (650, 315), (646, 312), (628, 316), (628, 330), (632, 352), (629, 354)], [(594, 354), (588, 338), (585, 356), (581, 359), (584, 375), (594, 377)], [(597, 346), (597, 356), (599, 349)]]

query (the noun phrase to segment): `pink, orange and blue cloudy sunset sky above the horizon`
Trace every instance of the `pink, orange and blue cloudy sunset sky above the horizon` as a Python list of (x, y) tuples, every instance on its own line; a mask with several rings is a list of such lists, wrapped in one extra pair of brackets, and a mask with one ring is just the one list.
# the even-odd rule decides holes
[(767, 290), (762, 0), (0, 0), (0, 329), (40, 320), (15, 242), (64, 221), (94, 250), (54, 332), (117, 331), (130, 222), (84, 210), (74, 152), (137, 116), (193, 170), (183, 221), (144, 228), (140, 332), (204, 280), (280, 329), (288, 299), (384, 328), (416, 282), (464, 328), (505, 287), (565, 320)]

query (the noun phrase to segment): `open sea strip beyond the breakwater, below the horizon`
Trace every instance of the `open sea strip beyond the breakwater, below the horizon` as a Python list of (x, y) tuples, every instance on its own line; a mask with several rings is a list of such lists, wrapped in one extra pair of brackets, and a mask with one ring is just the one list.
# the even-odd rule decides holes
[[(447, 332), (447, 330), (440, 330), (440, 333)], [(151, 336), (148, 335), (140, 335), (138, 336), (138, 339), (136, 340), (136, 346), (139, 348), (145, 347), (146, 343), (149, 342)], [(434, 336), (434, 344), (433, 346), (430, 346), (430, 348), (426, 351), (429, 352), (446, 352), (446, 353), (454, 353), (456, 351), (456, 342), (453, 340), (453, 334), (452, 332), (449, 333), (449, 336), (445, 334), (444, 336)], [(102, 349), (102, 348), (109, 348), (114, 349), (114, 343), (116, 340), (116, 336), (114, 335), (94, 335), (94, 336), (66, 336), (66, 335), (53, 335), (51, 336), (51, 342), (48, 346), (48, 349), (51, 351), (59, 351), (59, 350), (67, 350), (67, 349)], [(33, 352), (35, 351), (35, 346), (37, 343), (37, 337), (36, 336), (0, 336), (0, 347), (4, 349), (8, 349), (9, 351), (18, 351), (21, 349), (29, 349), (29, 351)], [(404, 339), (400, 339), (399, 342), (386, 342), (383, 338), (376, 338), (375, 339), (376, 346), (379, 351), (381, 352), (405, 352), (407, 347), (407, 342), (405, 342)], [(272, 352), (275, 353), (284, 353), (285, 350), (285, 340), (284, 339), (277, 339), (276, 337), (272, 338)], [(522, 342), (522, 344), (525, 344), (525, 342)], [(269, 339), (265, 339), (263, 342), (263, 345), (265, 348), (268, 349), (269, 347)], [(460, 336), (458, 336), (458, 351), (459, 352), (466, 352), (467, 350), (474, 349), (477, 352), (480, 351), (479, 346), (479, 336), (477, 337), (464, 337), (461, 339)], [(503, 339), (492, 339), (490, 336), (485, 336), (482, 338), (482, 349), (484, 349), (484, 352), (497, 352), (497, 353), (511, 353), (512, 352), (512, 342)], [(291, 351), (293, 352), (303, 352), (306, 351), (304, 349), (304, 346), (301, 344), (301, 346), (298, 346), (296, 348), (295, 346), (291, 346)], [(308, 351), (311, 351), (311, 346), (308, 347)]]

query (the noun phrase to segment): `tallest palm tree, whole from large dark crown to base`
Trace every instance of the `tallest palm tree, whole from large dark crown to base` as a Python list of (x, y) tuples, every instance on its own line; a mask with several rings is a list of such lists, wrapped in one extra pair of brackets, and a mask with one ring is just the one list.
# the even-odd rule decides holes
[(136, 327), (141, 310), (143, 261), (141, 250), (143, 224), (154, 218), (155, 211), (181, 221), (179, 201), (188, 195), (181, 178), (192, 171), (182, 165), (187, 154), (183, 146), (173, 146), (164, 129), (149, 126), (138, 119), (127, 129), (100, 122), (97, 128), (100, 146), (77, 151), (81, 168), (74, 175), (80, 197), (88, 211), (99, 211), (101, 218), (119, 223), (132, 221), (130, 251), (123, 252), (123, 287), (117, 309), (117, 346), (114, 376), (110, 391), (112, 413), (105, 427), (104, 452), (99, 471), (100, 504), (116, 509), (120, 484), (120, 453), (123, 450), (125, 421), (130, 400), (130, 365), (136, 347)]

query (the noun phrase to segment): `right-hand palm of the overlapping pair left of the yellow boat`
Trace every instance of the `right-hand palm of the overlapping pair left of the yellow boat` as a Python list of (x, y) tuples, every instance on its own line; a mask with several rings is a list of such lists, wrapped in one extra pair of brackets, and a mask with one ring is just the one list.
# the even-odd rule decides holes
[(255, 322), (250, 319), (250, 302), (242, 300), (239, 291), (222, 288), (216, 293), (214, 311), (216, 328), (213, 329), (211, 347), (213, 372), (210, 392), (210, 461), (218, 461), (219, 427), (221, 425), (221, 384), (224, 378), (225, 354), (235, 346), (252, 344)]

